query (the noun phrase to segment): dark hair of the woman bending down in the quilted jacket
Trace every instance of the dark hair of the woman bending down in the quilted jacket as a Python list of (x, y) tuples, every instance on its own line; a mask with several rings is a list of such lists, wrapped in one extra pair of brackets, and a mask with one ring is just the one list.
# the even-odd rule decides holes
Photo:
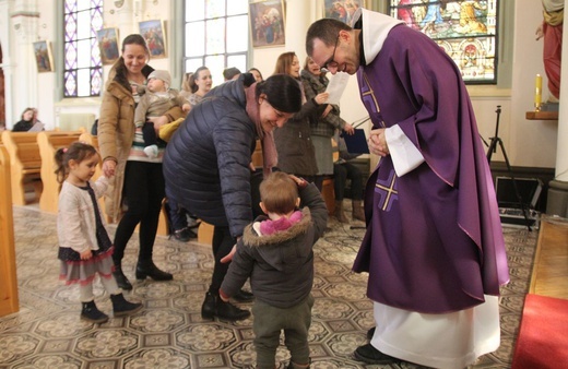
[(261, 94), (267, 95), (267, 100), (276, 110), (296, 112), (301, 109), (299, 83), (289, 74), (273, 74), (257, 83), (257, 100)]

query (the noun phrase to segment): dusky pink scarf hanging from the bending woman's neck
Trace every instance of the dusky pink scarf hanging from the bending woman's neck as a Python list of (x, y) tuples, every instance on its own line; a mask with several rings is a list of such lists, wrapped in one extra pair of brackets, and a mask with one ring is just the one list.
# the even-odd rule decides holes
[(262, 130), (256, 90), (256, 83), (245, 88), (245, 94), (247, 96), (247, 114), (250, 120), (252, 120), (257, 126), (257, 134), (262, 144), (262, 174), (264, 178), (267, 178), (267, 176), (272, 171), (272, 167), (275, 167), (279, 164), (279, 153), (276, 152), (276, 144), (274, 143), (273, 131), (264, 132), (264, 130)]

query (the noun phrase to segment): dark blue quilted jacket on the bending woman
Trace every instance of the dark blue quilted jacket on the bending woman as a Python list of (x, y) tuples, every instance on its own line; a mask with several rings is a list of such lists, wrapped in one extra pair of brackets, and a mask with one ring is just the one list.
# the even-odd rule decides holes
[(166, 195), (191, 214), (241, 236), (252, 222), (249, 163), (257, 129), (241, 75), (210, 91), (174, 133), (164, 156)]

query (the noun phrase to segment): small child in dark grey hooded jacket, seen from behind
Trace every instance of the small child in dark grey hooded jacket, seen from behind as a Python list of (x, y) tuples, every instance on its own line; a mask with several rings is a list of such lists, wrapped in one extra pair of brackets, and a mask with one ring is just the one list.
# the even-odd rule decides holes
[(274, 368), (282, 330), (292, 356), (288, 368), (309, 368), (312, 247), (326, 229), (326, 202), (313, 183), (281, 171), (262, 181), (260, 199), (268, 216), (245, 228), (220, 297), (228, 301), (250, 277), (257, 368)]

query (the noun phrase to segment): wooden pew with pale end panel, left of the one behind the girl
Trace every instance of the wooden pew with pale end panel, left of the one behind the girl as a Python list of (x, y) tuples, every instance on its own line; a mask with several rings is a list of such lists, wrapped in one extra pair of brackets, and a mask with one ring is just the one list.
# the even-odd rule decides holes
[(42, 156), (37, 145), (37, 132), (2, 132), (2, 143), (10, 157), (12, 203), (25, 205), (26, 189), (33, 187), (35, 200), (42, 194)]

